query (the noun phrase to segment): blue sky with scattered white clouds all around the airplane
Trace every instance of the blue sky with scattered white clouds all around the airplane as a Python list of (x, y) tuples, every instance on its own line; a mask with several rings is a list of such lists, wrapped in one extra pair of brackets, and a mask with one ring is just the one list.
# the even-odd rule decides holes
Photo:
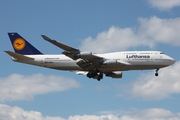
[[(180, 119), (180, 0), (1, 1), (0, 119)], [(45, 34), (96, 53), (160, 50), (176, 63), (125, 71), (100, 82), (73, 72), (11, 61), (7, 32), (18, 32), (44, 54), (62, 50)]]

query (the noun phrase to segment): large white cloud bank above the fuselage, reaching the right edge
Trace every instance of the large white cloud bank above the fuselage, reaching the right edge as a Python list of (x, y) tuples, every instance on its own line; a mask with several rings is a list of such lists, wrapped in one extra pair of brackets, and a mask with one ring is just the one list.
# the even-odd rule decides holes
[(122, 51), (138, 46), (154, 47), (158, 43), (180, 46), (180, 18), (161, 19), (156, 16), (139, 18), (137, 28), (112, 26), (99, 33), (96, 38), (88, 37), (80, 49), (97, 53)]

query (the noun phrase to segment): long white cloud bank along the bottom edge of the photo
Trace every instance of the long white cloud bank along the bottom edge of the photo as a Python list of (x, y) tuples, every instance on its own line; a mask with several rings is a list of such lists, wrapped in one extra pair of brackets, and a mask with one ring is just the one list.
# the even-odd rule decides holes
[(126, 111), (123, 114), (74, 115), (67, 119), (60, 116), (43, 116), (38, 111), (25, 111), (20, 107), (0, 104), (1, 120), (179, 120), (179, 113), (161, 108)]

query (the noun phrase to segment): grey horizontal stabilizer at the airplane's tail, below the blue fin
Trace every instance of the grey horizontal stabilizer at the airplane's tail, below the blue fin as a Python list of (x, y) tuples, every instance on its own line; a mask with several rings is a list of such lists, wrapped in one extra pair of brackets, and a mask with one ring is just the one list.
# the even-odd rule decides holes
[(4, 51), (4, 52), (6, 52), (11, 57), (18, 59), (18, 60), (33, 60), (34, 59), (34, 58), (27, 57), (27, 56), (21, 55), (19, 53), (11, 52), (11, 51)]

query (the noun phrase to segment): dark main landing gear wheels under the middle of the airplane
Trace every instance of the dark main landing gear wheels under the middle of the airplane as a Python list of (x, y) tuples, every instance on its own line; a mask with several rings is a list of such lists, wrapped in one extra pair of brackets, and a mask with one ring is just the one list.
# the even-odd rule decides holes
[(98, 81), (100, 81), (103, 78), (103, 73), (99, 72), (99, 71), (89, 71), (87, 74), (88, 78), (94, 78), (97, 79)]

